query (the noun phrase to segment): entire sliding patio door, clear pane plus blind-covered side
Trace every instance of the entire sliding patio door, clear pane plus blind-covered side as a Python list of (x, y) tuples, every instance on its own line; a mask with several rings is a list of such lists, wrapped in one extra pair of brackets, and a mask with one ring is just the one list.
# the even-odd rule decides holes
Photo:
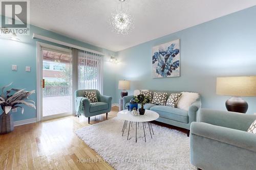
[(76, 89), (103, 92), (103, 55), (37, 42), (37, 121), (75, 115)]

